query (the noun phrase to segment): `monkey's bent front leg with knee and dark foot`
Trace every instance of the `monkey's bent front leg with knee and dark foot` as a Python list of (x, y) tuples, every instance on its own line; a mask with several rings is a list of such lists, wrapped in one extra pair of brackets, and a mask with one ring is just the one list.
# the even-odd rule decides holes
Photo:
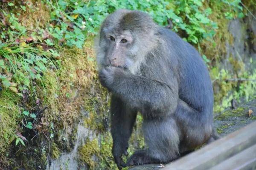
[(171, 116), (163, 120), (144, 120), (143, 132), (147, 150), (135, 152), (126, 165), (166, 163), (179, 156), (179, 129)]

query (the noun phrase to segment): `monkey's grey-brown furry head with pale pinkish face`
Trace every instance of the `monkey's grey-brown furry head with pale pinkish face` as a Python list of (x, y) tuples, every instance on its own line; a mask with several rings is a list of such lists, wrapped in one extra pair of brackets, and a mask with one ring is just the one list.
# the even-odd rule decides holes
[(95, 41), (99, 68), (112, 65), (134, 73), (157, 44), (156, 29), (151, 17), (141, 11), (120, 9), (110, 14)]

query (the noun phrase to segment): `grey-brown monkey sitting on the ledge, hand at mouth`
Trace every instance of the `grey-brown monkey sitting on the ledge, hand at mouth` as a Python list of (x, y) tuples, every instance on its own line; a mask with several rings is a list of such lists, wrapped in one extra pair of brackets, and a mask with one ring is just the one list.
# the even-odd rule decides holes
[[(142, 11), (119, 9), (103, 21), (95, 51), (99, 80), (111, 92), (112, 153), (119, 170), (168, 163), (218, 139), (207, 66), (175, 32)], [(146, 149), (125, 163), (138, 112)]]

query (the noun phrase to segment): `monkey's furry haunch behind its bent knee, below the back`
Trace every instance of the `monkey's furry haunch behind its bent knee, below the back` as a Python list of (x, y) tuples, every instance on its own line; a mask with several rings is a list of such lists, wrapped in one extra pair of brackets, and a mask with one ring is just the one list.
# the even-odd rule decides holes
[(179, 146), (181, 154), (217, 139), (212, 125), (212, 115), (207, 111), (198, 112), (179, 99), (174, 117), (182, 134)]

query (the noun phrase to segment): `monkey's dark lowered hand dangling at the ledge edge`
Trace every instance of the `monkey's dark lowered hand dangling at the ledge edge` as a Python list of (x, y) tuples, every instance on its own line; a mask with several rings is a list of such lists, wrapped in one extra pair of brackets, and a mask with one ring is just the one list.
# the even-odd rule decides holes
[(127, 149), (128, 149), (127, 142), (123, 142), (120, 144), (113, 144), (112, 153), (119, 170), (121, 170), (122, 167), (126, 167), (125, 162), (122, 160), (122, 154), (124, 154), (125, 156), (128, 156)]

